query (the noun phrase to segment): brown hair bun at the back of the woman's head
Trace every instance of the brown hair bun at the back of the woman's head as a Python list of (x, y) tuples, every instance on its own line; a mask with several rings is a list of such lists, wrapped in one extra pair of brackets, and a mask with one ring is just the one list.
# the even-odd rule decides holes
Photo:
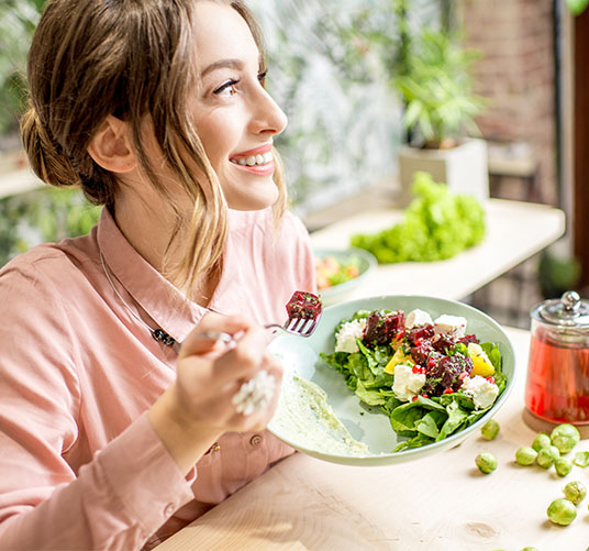
[(35, 108), (30, 104), (21, 118), (24, 150), (33, 172), (52, 186), (79, 186), (80, 175), (59, 144), (52, 140)]

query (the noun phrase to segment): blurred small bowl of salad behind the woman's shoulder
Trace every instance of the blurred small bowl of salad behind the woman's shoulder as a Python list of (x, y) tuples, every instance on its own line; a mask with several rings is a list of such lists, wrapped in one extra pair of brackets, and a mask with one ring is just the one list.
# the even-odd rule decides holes
[(364, 249), (315, 249), (315, 274), (323, 305), (344, 300), (377, 268), (376, 257)]

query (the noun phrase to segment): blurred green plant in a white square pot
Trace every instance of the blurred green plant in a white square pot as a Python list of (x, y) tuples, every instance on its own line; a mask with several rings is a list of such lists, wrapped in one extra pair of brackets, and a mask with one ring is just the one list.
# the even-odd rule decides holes
[(411, 199), (416, 172), (427, 172), (457, 194), (485, 201), (489, 196), (487, 145), (474, 118), (485, 101), (473, 92), (471, 64), (478, 54), (463, 49), (443, 32), (424, 31), (411, 41), (402, 71), (392, 79), (404, 102), (410, 143), (399, 153), (400, 206)]

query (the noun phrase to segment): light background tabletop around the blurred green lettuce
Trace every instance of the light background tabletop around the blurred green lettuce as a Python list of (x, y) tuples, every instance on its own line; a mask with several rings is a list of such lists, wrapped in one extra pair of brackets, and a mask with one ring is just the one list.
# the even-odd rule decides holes
[[(313, 246), (347, 249), (349, 236), (399, 221), (391, 208), (363, 210), (311, 234)], [(379, 265), (345, 300), (378, 295), (429, 295), (458, 300), (542, 251), (565, 232), (565, 214), (545, 205), (490, 199), (487, 235), (476, 247), (431, 263)]]

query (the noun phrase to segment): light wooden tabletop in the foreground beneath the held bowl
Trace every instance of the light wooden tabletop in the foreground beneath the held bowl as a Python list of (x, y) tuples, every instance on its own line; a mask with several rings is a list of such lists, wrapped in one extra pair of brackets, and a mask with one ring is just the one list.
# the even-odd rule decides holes
[[(589, 543), (585, 499), (577, 519), (546, 518), (568, 481), (589, 486), (589, 469), (565, 478), (554, 470), (519, 466), (516, 449), (535, 431), (522, 419), (530, 334), (507, 330), (515, 349), (514, 388), (496, 415), (493, 441), (478, 433), (430, 458), (390, 466), (336, 465), (297, 453), (210, 510), (157, 551), (399, 550), (584, 551)], [(575, 451), (589, 450), (584, 440)], [(481, 474), (475, 456), (491, 451), (497, 471)]]

